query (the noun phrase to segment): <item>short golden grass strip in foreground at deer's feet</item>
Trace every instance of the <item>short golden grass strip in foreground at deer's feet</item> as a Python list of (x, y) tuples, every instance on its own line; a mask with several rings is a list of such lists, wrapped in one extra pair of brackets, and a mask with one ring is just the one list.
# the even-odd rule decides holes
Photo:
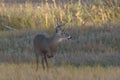
[(0, 80), (119, 80), (119, 67), (60, 66), (58, 73), (51, 67), (49, 72), (35, 71), (34, 64), (0, 64)]

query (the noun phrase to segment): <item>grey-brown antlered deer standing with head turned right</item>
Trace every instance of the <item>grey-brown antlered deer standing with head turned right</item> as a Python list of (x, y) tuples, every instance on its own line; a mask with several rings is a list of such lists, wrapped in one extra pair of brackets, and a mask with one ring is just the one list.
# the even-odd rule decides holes
[[(49, 70), (48, 59), (54, 58), (57, 48), (64, 40), (70, 40), (72, 37), (61, 27), (64, 24), (57, 25), (53, 35), (37, 34), (33, 39), (33, 46), (36, 55), (36, 71), (38, 71), (39, 57), (41, 57), (42, 68)], [(45, 68), (46, 67), (46, 68)]]

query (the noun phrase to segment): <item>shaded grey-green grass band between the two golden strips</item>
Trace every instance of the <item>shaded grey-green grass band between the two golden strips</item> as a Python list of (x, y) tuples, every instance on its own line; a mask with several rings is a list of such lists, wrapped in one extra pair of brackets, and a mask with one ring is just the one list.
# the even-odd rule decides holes
[[(109, 26), (109, 25), (108, 25)], [(84, 26), (66, 29), (73, 37), (57, 51), (58, 64), (119, 66), (120, 25)], [(52, 30), (52, 29), (51, 29)], [(53, 29), (54, 30), (54, 29)], [(0, 62), (34, 62), (33, 38), (49, 30), (3, 31), (0, 34)], [(74, 47), (73, 47), (74, 46)], [(64, 58), (63, 53), (67, 58)]]

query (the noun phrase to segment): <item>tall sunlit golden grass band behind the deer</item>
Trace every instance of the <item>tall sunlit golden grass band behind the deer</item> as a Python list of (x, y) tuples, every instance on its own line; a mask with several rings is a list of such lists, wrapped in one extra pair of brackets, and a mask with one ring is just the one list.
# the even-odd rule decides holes
[(102, 25), (119, 23), (119, 4), (107, 5), (98, 2), (93, 5), (80, 3), (0, 3), (0, 29), (8, 25), (17, 29), (50, 28), (59, 21), (77, 25)]

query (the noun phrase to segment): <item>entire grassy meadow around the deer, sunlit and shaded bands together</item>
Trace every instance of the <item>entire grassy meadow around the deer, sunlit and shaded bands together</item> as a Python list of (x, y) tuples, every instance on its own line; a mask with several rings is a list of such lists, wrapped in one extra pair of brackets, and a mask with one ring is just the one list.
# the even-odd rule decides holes
[[(0, 80), (119, 80), (120, 4), (0, 3)], [(57, 23), (72, 36), (57, 51), (58, 73), (35, 71), (33, 38), (54, 33)], [(66, 55), (66, 58), (64, 57)]]

